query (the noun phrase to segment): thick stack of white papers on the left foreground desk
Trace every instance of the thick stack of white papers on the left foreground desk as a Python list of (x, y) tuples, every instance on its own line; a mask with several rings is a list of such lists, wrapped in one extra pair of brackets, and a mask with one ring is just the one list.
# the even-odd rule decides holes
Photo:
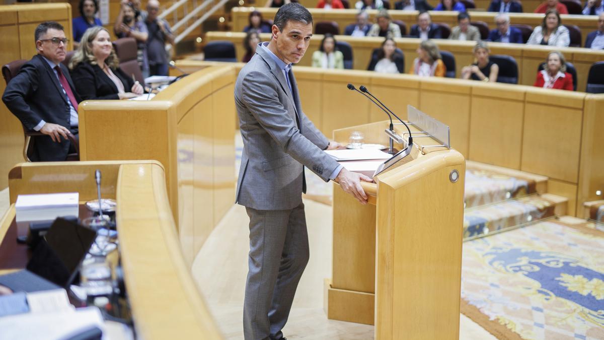
[(54, 220), (62, 216), (78, 216), (77, 192), (62, 194), (19, 195), (14, 204), (16, 221)]

